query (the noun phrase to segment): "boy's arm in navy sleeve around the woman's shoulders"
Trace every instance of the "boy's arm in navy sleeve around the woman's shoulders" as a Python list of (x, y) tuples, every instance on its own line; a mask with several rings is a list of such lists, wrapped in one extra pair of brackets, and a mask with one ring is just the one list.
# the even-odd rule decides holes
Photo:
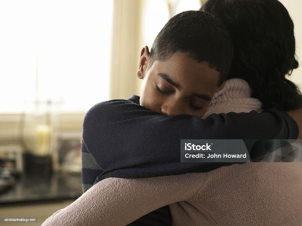
[(92, 107), (83, 122), (83, 143), (108, 177), (143, 178), (207, 172), (224, 163), (180, 163), (181, 139), (296, 139), (285, 112), (165, 116), (127, 100)]

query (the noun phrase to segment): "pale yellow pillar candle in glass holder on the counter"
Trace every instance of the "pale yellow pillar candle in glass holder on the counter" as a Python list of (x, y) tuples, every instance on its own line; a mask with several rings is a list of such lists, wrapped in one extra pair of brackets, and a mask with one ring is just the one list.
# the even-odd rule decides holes
[(36, 148), (34, 154), (47, 156), (50, 154), (52, 128), (49, 125), (36, 125)]

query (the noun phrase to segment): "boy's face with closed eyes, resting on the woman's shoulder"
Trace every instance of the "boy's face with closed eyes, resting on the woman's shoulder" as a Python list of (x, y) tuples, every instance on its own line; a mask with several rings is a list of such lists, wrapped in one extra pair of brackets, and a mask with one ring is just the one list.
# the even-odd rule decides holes
[(143, 48), (137, 76), (143, 79), (140, 105), (168, 116), (202, 117), (218, 87), (219, 72), (198, 63), (188, 53), (175, 53), (166, 61), (156, 60), (148, 69), (149, 49)]

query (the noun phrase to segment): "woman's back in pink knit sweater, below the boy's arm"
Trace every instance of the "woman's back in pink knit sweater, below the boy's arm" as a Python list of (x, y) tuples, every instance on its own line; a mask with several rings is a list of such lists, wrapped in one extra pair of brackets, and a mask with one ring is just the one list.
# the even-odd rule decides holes
[(200, 190), (169, 205), (172, 225), (301, 225), (301, 163), (234, 164), (194, 177)]

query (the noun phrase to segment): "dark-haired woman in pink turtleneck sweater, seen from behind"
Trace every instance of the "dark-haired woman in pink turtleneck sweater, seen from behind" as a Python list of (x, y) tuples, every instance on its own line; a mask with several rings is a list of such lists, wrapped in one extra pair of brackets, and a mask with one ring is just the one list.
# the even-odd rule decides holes
[[(225, 5), (223, 3), (220, 5), (220, 2)], [(245, 20), (249, 22), (251, 18), (258, 23), (253, 21), (249, 23), (249, 29), (254, 29), (256, 32), (250, 32), (244, 38), (240, 38), (240, 35), (245, 34), (239, 32), (236, 40), (233, 39), (233, 41), (238, 41), (240, 44), (243, 42), (243, 46), (251, 45), (253, 48), (261, 45), (267, 47), (271, 45), (270, 40), (281, 39), (280, 34), (277, 36), (263, 35), (264, 42), (258, 43), (257, 40), (262, 39), (258, 39), (257, 35), (262, 37), (264, 32), (258, 32), (258, 29), (268, 29), (269, 27), (270, 32), (280, 31), (282, 33), (283, 28), (262, 27), (262, 22), (259, 21), (268, 20), (268, 23), (271, 24), (272, 21), (275, 21), (275, 17), (271, 17), (274, 15), (267, 13), (262, 13), (260, 17), (257, 14), (258, 11), (266, 12), (268, 8), (271, 8), (276, 16), (282, 17), (281, 20), (289, 16), (286, 13), (280, 13), (284, 12), (284, 7), (278, 1), (261, 2), (268, 2), (270, 5), (261, 5), (256, 0), (217, 0), (209, 1), (204, 7), (210, 8), (211, 4), (216, 6), (217, 3), (215, 10), (228, 12), (228, 7), (232, 9), (232, 6), (235, 5), (236, 10), (231, 14), (226, 13), (228, 15), (226, 19), (232, 20), (234, 17), (233, 21), (242, 23), (243, 27), (246, 26), (244, 25)], [(255, 4), (259, 8), (253, 8), (252, 5)], [(243, 11), (242, 16), (245, 16), (245, 19), (237, 18), (236, 13), (239, 10)], [(254, 17), (254, 14), (257, 16)], [(223, 20), (223, 22), (225, 21)], [(290, 27), (292, 24), (290, 18), (287, 23)], [(276, 26), (278, 24), (280, 23), (277, 23)], [(234, 27), (236, 28), (236, 26), (238, 25)], [(230, 32), (234, 38), (232, 31)], [(293, 36), (293, 31), (287, 33)], [(255, 42), (252, 42), (252, 38), (255, 38)], [(250, 40), (252, 44), (249, 44)], [(286, 40), (285, 42), (287, 42)], [(250, 49), (241, 51), (241, 45), (237, 47), (234, 43), (235, 48), (238, 48), (234, 56), (235, 59), (238, 59), (238, 65), (234, 60), (229, 78), (236, 79), (229, 80), (225, 88), (217, 93), (213, 101), (215, 104), (209, 107), (208, 113), (228, 112), (230, 111), (228, 107), (232, 111), (238, 112), (260, 110), (260, 106), (262, 109), (269, 107), (278, 107), (283, 110), (300, 108), (300, 92), (284, 77), (286, 73), (297, 67), (293, 58), (294, 52), (290, 51), (294, 48), (294, 39), (290, 39), (288, 42), (290, 43), (284, 44), (281, 41), (282, 45), (276, 44), (271, 49), (257, 48), (256, 52), (259, 51), (259, 54), (263, 50), (261, 53), (263, 57), (260, 54), (262, 58), (258, 58), (257, 54), (254, 57), (252, 57), (253, 54), (249, 56)], [(275, 54), (278, 55), (278, 51), (280, 54), (283, 53), (281, 51), (283, 46), (286, 47), (284, 48), (286, 56), (280, 56), (281, 60), (277, 59), (278, 57), (276, 60), (271, 59)], [(267, 52), (270, 54), (267, 55)], [(291, 53), (288, 54), (289, 52)], [(253, 82), (255, 76), (257, 79)], [(251, 88), (245, 81), (238, 78), (245, 79)], [(268, 88), (264, 89), (266, 86)], [(276, 89), (281, 91), (276, 91)], [(265, 94), (262, 95), (260, 91)], [(250, 96), (250, 92), (252, 92), (252, 96)], [(291, 95), (291, 100), (294, 101), (287, 100), (288, 95)], [(259, 98), (262, 104), (252, 97)], [(226, 100), (227, 104), (225, 104)], [(242, 104), (246, 103), (252, 104), (247, 104), (243, 109)], [(278, 171), (276, 172), (276, 170)], [(301, 166), (295, 165), (295, 163), (290, 165), (252, 163), (235, 164), (207, 173), (141, 179), (107, 178), (95, 184), (70, 206), (56, 212), (48, 221), (49, 224), (45, 222), (45, 225), (63, 225), (62, 219), (66, 220), (68, 217), (71, 221), (66, 223), (69, 225), (73, 225), (72, 218), (77, 219), (75, 225), (94, 225), (94, 223), (98, 225), (101, 218), (102, 225), (125, 225), (130, 223), (131, 219), (134, 220), (167, 204), (170, 204), (173, 225), (300, 225), (301, 214), (297, 211), (302, 208), (301, 170)], [(152, 189), (150, 189), (151, 186)], [(280, 193), (281, 190), (285, 192)], [(295, 195), (293, 196), (293, 194)], [(285, 208), (287, 208), (286, 212)], [(88, 212), (83, 211), (87, 209), (89, 209)], [(78, 216), (74, 216), (75, 212)], [(162, 222), (167, 221), (162, 219)], [(144, 225), (148, 225), (146, 220)]]

